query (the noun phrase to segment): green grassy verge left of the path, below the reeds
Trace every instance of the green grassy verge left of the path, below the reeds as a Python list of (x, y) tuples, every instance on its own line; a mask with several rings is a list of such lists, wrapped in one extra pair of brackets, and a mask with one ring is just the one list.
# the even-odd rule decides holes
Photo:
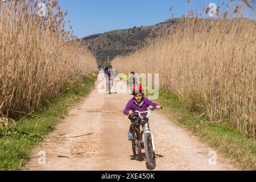
[(36, 144), (65, 117), (69, 106), (90, 92), (94, 81), (95, 77), (86, 77), (71, 88), (66, 87), (49, 107), (22, 119), (15, 129), (0, 137), (0, 170), (22, 169)]

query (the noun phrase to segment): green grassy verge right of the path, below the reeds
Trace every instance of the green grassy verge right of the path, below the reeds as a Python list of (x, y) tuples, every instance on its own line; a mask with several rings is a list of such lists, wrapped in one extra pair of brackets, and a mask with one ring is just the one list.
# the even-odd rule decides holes
[[(161, 92), (158, 99), (167, 115), (181, 127), (190, 130), (231, 159), (234, 166), (243, 170), (256, 170), (256, 143), (225, 123), (209, 123), (207, 117), (188, 109), (174, 94)], [(201, 115), (201, 116), (200, 116)]]

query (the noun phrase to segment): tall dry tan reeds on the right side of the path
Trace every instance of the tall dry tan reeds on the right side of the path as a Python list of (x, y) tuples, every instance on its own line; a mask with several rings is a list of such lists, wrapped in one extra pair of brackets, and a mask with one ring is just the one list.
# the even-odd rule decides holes
[(255, 25), (255, 16), (183, 17), (170, 35), (115, 57), (113, 67), (123, 73), (160, 73), (160, 89), (207, 115), (210, 123), (229, 123), (255, 139)]

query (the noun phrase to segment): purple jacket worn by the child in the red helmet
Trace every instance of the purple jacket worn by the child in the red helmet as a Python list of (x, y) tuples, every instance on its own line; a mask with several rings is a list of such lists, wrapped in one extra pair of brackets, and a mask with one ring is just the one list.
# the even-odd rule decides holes
[[(129, 110), (133, 110), (133, 112), (135, 111), (146, 111), (148, 106), (153, 106), (156, 107), (158, 106), (158, 104), (150, 101), (148, 98), (143, 98), (142, 102), (143, 104), (141, 106), (138, 106), (135, 103), (135, 99), (132, 98), (126, 105), (125, 110), (123, 111), (123, 114), (128, 115), (129, 114)], [(134, 115), (138, 115), (138, 114), (134, 114)], [(147, 115), (147, 113), (143, 113), (142, 117), (145, 117)]]

